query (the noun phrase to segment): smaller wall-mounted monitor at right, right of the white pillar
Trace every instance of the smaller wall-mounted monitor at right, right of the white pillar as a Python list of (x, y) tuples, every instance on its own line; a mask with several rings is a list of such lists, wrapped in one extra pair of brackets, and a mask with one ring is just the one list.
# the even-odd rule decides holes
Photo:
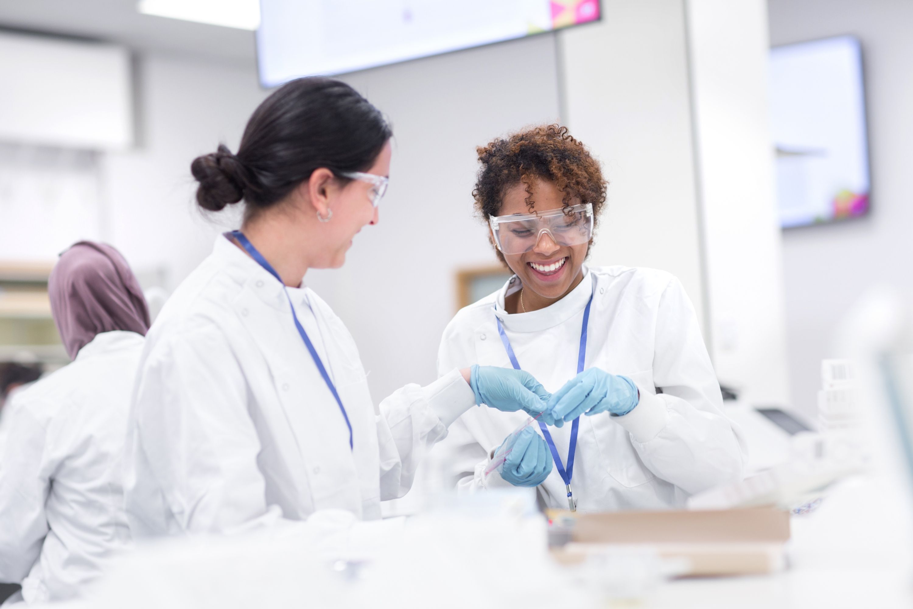
[(857, 39), (771, 49), (771, 129), (784, 228), (868, 212), (866, 96)]

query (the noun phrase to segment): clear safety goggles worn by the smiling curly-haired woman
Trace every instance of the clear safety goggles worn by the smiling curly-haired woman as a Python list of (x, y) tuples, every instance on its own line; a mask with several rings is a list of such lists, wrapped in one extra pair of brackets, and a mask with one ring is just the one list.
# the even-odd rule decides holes
[(593, 205), (582, 203), (536, 214), (492, 215), (488, 225), (503, 254), (522, 254), (548, 234), (559, 246), (579, 246), (593, 236)]

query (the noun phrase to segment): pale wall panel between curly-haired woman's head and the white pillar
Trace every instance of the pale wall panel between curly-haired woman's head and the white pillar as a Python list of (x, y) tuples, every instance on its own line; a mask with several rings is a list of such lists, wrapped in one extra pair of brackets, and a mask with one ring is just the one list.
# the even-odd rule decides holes
[(603, 0), (558, 36), (564, 119), (610, 183), (591, 263), (673, 273), (705, 324), (682, 0)]

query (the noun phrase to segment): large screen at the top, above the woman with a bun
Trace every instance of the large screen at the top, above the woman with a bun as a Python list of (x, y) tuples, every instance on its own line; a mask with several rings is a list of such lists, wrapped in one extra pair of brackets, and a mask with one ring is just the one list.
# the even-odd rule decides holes
[(599, 0), (260, 0), (264, 87), (596, 21)]

